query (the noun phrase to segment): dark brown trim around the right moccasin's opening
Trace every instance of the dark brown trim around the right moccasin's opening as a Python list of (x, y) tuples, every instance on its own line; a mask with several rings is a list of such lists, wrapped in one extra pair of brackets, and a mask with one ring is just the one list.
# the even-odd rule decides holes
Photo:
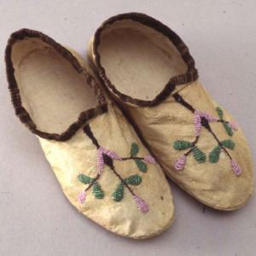
[[(111, 26), (115, 21), (118, 21), (118, 20), (135, 20), (137, 22), (142, 23), (145, 26), (150, 26), (154, 28), (154, 30), (163, 33), (167, 38), (170, 39), (172, 44), (176, 46), (178, 52), (181, 54), (183, 58), (183, 61), (187, 64), (187, 67), (188, 67), (187, 72), (184, 74), (172, 77), (169, 80), (169, 82), (165, 85), (164, 89), (157, 96), (155, 96), (155, 98), (151, 101), (144, 101), (144, 100), (132, 98), (131, 96), (121, 93), (119, 90), (116, 89), (116, 87), (113, 84), (111, 84), (111, 81), (108, 79), (106, 75), (104, 67), (102, 67), (101, 55), (99, 54), (99, 51), (98, 51), (98, 47), (101, 44), (101, 34), (107, 26)], [(105, 87), (108, 89), (110, 93), (113, 93), (116, 96), (118, 96), (121, 101), (130, 102), (137, 106), (141, 106), (141, 107), (155, 106), (160, 102), (164, 101), (166, 97), (172, 93), (176, 85), (187, 84), (198, 79), (198, 73), (195, 68), (195, 61), (193, 57), (189, 54), (189, 49), (183, 43), (183, 40), (179, 38), (177, 34), (173, 32), (168, 26), (164, 25), (159, 20), (154, 20), (154, 18), (148, 15), (139, 14), (139, 13), (127, 13), (127, 14), (113, 16), (108, 20), (104, 21), (102, 26), (100, 26), (96, 30), (95, 38), (93, 42), (93, 51), (94, 51), (93, 54), (96, 57), (95, 59), (96, 69), (99, 77), (102, 80), (102, 84), (105, 85)]]

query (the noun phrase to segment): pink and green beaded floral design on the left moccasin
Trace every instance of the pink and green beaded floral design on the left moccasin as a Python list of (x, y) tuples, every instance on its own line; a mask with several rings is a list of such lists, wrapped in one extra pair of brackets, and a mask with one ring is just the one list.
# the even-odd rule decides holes
[(99, 178), (102, 176), (102, 172), (105, 166), (108, 166), (110, 170), (119, 178), (119, 183), (117, 183), (116, 189), (112, 193), (113, 201), (119, 202), (122, 201), (125, 195), (125, 189), (127, 189), (134, 201), (137, 204), (137, 208), (139, 211), (146, 213), (149, 211), (149, 206), (146, 201), (143, 200), (140, 196), (136, 195), (134, 191), (131, 189), (131, 186), (138, 186), (143, 182), (143, 177), (138, 174), (131, 175), (129, 177), (121, 177), (119, 173), (115, 170), (113, 161), (114, 160), (134, 160), (137, 164), (138, 170), (140, 172), (148, 171), (148, 164), (155, 164), (155, 160), (151, 155), (146, 155), (144, 157), (139, 157), (137, 154), (139, 153), (139, 148), (137, 143), (131, 143), (131, 152), (129, 157), (120, 157), (117, 153), (112, 150), (102, 148), (94, 137), (92, 131), (90, 130), (90, 125), (84, 126), (84, 133), (90, 137), (92, 143), (97, 148), (97, 174), (96, 177), (89, 177), (84, 174), (79, 174), (78, 179), (81, 183), (88, 185), (86, 189), (80, 192), (78, 196), (78, 201), (80, 203), (84, 203), (86, 200), (86, 195), (90, 189), (92, 189), (93, 195), (95, 195), (96, 199), (104, 198), (104, 191), (98, 183)]

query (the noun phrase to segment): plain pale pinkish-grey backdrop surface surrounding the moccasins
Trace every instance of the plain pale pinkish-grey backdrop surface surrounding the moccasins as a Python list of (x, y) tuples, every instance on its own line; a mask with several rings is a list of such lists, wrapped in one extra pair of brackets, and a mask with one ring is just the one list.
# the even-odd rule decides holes
[(133, 241), (79, 214), (61, 193), (38, 140), (15, 117), (3, 53), (21, 27), (85, 56), (102, 20), (137, 11), (170, 26), (189, 45), (201, 81), (235, 115), (255, 160), (256, 2), (0, 0), (0, 255), (256, 255), (256, 201), (237, 212), (203, 206), (173, 183), (176, 221), (161, 236)]

